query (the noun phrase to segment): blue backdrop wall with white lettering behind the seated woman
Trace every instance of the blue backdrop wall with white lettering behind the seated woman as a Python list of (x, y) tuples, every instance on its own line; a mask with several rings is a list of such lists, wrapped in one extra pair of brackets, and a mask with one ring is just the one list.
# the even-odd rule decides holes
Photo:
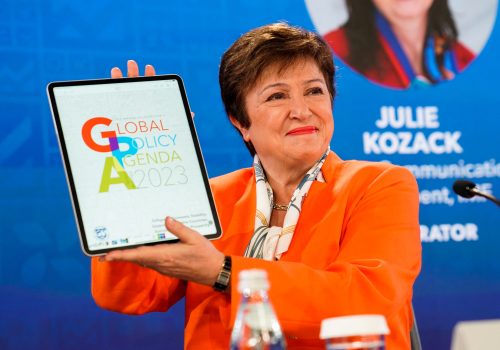
[[(0, 9), (0, 349), (182, 348), (182, 303), (169, 313), (131, 317), (92, 301), (45, 86), (107, 77), (130, 58), (178, 73), (209, 175), (249, 166), (220, 102), (220, 57), (259, 25), (286, 20), (315, 30), (306, 4), (1, 0)], [(406, 165), (419, 181), (423, 268), (414, 306), (427, 349), (449, 348), (459, 320), (500, 318), (498, 209), (450, 192), (456, 178), (468, 178), (498, 195), (499, 56), (496, 25), (465, 72), (411, 91), (380, 87), (336, 61), (332, 149), (345, 159)], [(377, 126), (382, 108), (392, 107), (420, 108), (434, 124)], [(390, 140), (400, 131), (426, 140), (448, 133), (451, 151), (394, 151)]]

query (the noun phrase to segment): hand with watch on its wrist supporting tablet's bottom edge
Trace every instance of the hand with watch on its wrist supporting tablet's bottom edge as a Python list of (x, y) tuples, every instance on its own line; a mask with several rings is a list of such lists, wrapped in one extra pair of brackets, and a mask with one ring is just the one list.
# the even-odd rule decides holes
[(180, 242), (114, 250), (105, 261), (129, 261), (161, 274), (212, 286), (224, 262), (224, 254), (198, 232), (167, 217), (166, 228)]

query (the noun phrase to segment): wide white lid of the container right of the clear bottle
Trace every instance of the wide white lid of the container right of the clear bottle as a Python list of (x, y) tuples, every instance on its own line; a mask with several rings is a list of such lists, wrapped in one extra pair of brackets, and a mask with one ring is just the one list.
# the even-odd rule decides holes
[(389, 327), (382, 315), (354, 315), (332, 317), (321, 322), (321, 339), (352, 337), (356, 335), (385, 335)]

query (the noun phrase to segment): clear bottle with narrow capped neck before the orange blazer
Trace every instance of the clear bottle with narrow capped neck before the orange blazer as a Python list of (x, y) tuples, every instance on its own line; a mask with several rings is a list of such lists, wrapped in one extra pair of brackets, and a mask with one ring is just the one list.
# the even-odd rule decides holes
[(231, 334), (231, 350), (286, 349), (276, 314), (269, 302), (267, 272), (252, 269), (239, 274), (241, 302)]

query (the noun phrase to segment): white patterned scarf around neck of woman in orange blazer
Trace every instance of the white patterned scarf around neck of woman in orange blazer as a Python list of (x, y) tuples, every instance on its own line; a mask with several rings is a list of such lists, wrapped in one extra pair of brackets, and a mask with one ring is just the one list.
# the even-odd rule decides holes
[(309, 192), (313, 181), (325, 182), (321, 167), (325, 162), (330, 148), (321, 156), (314, 166), (302, 178), (292, 195), (285, 214), (283, 227), (269, 227), (271, 212), (274, 205), (273, 189), (267, 181), (257, 154), (254, 157), (257, 210), (255, 212), (255, 228), (252, 238), (245, 250), (245, 256), (264, 260), (279, 260), (288, 250), (299, 220), (302, 202)]

